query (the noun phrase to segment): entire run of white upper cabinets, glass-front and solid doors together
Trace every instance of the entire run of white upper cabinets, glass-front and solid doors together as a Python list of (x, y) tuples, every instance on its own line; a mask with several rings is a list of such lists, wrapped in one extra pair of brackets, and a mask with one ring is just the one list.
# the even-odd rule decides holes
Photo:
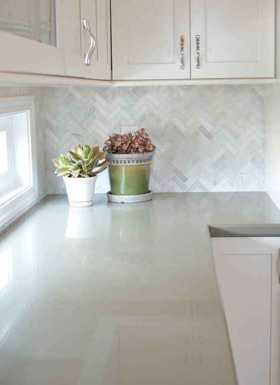
[(273, 78), (275, 0), (0, 0), (0, 47), (0, 72)]

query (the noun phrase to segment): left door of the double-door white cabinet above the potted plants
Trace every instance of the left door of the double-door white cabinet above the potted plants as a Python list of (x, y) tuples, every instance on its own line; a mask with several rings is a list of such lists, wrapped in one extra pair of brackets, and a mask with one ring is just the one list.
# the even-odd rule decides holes
[(190, 78), (189, 0), (111, 0), (113, 79)]

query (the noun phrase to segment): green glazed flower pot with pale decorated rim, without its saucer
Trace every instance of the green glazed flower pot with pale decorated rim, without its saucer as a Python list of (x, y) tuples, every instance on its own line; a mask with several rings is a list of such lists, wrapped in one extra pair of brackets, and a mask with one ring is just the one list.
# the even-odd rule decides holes
[(107, 154), (111, 194), (147, 194), (153, 154), (153, 151), (145, 154)]

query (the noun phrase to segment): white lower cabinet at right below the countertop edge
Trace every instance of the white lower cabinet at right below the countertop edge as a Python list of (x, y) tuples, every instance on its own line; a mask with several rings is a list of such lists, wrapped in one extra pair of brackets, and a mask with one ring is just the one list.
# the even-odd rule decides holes
[(280, 237), (211, 238), (239, 385), (280, 384)]

